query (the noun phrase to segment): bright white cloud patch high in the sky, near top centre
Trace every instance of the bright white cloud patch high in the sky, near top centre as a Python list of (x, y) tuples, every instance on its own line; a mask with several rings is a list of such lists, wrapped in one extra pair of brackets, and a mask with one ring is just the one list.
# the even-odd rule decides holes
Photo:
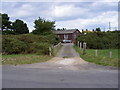
[(83, 15), (85, 12), (88, 12), (88, 9), (75, 7), (74, 5), (56, 5), (52, 10), (52, 15), (53, 17), (74, 17), (78, 15)]

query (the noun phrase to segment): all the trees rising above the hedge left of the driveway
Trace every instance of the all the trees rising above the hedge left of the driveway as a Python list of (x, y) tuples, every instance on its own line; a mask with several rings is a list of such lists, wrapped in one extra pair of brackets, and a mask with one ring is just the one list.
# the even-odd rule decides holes
[[(5, 13), (0, 13), (0, 16), (2, 17), (1, 30), (3, 35), (19, 35), (29, 33), (28, 26), (24, 21), (16, 19), (14, 22), (12, 22), (10, 21), (8, 14)], [(31, 32), (33, 34), (44, 35), (52, 33), (51, 30), (55, 30), (55, 21), (49, 21), (39, 17), (34, 21), (34, 24), (35, 30)]]

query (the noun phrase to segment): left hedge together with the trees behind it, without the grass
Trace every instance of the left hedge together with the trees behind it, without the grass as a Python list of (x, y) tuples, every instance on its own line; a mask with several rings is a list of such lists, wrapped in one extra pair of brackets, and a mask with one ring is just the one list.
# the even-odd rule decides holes
[(2, 53), (48, 55), (48, 48), (59, 43), (58, 37), (52, 33), (54, 21), (39, 18), (34, 21), (35, 30), (29, 33), (27, 24), (16, 19), (9, 21), (7, 14), (2, 14)]

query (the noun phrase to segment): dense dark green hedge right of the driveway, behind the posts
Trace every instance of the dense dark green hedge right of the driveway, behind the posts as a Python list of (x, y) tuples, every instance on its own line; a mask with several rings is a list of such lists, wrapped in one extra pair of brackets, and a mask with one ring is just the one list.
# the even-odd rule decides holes
[(86, 42), (87, 48), (90, 49), (120, 48), (120, 42), (118, 40), (119, 33), (119, 31), (89, 32), (86, 35), (81, 34), (76, 40)]

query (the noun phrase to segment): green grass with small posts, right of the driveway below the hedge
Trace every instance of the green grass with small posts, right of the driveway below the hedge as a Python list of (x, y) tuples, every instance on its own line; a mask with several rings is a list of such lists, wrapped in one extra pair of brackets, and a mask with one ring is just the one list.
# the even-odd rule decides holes
[[(95, 56), (95, 49), (87, 49), (87, 53), (83, 55), (82, 50), (80, 50), (79, 47), (74, 45), (74, 48), (79, 53), (80, 57), (88, 62), (104, 66), (118, 67), (118, 49), (101, 49), (98, 50), (98, 56)], [(109, 57), (110, 51), (112, 52), (112, 58)]]

